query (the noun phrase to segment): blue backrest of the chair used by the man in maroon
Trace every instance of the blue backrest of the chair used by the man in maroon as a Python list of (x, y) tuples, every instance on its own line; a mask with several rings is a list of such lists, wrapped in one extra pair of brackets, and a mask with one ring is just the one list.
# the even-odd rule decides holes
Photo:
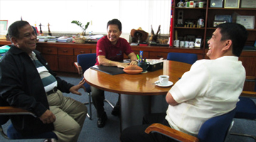
[(96, 63), (96, 53), (78, 55), (78, 64), (82, 67), (82, 72), (92, 67)]

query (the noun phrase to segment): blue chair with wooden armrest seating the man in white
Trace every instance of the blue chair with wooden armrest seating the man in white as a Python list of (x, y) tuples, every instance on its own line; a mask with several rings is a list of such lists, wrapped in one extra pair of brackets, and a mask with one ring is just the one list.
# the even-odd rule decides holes
[(230, 129), (233, 126), (233, 117), (235, 115), (235, 109), (220, 116), (215, 116), (208, 119), (200, 128), (198, 136), (191, 136), (181, 131), (171, 129), (169, 126), (162, 124), (151, 124), (146, 128), (146, 133), (161, 133), (170, 138), (178, 141), (188, 142), (222, 142), (225, 141)]

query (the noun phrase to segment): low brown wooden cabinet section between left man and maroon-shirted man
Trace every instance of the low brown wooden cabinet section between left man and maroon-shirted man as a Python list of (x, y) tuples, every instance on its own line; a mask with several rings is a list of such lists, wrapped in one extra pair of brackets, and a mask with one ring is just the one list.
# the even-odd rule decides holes
[(78, 54), (95, 53), (96, 45), (73, 43), (37, 43), (37, 50), (41, 51), (48, 65), (58, 72), (78, 72), (74, 62)]

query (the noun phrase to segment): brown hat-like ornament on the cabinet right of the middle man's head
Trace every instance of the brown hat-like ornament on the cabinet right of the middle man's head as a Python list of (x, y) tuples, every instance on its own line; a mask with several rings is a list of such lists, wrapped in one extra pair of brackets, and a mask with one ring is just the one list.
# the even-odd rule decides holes
[(147, 38), (149, 37), (149, 33), (143, 31), (141, 27), (139, 27), (137, 30), (132, 29), (130, 34), (132, 37), (132, 43), (138, 44), (146, 42)]

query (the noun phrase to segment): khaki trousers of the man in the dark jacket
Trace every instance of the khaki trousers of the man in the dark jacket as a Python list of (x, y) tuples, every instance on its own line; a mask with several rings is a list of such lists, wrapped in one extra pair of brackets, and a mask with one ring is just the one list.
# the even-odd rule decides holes
[(84, 124), (87, 114), (87, 107), (74, 99), (64, 97), (58, 90), (47, 96), (50, 111), (56, 117), (54, 133), (58, 136), (59, 142), (75, 142)]

